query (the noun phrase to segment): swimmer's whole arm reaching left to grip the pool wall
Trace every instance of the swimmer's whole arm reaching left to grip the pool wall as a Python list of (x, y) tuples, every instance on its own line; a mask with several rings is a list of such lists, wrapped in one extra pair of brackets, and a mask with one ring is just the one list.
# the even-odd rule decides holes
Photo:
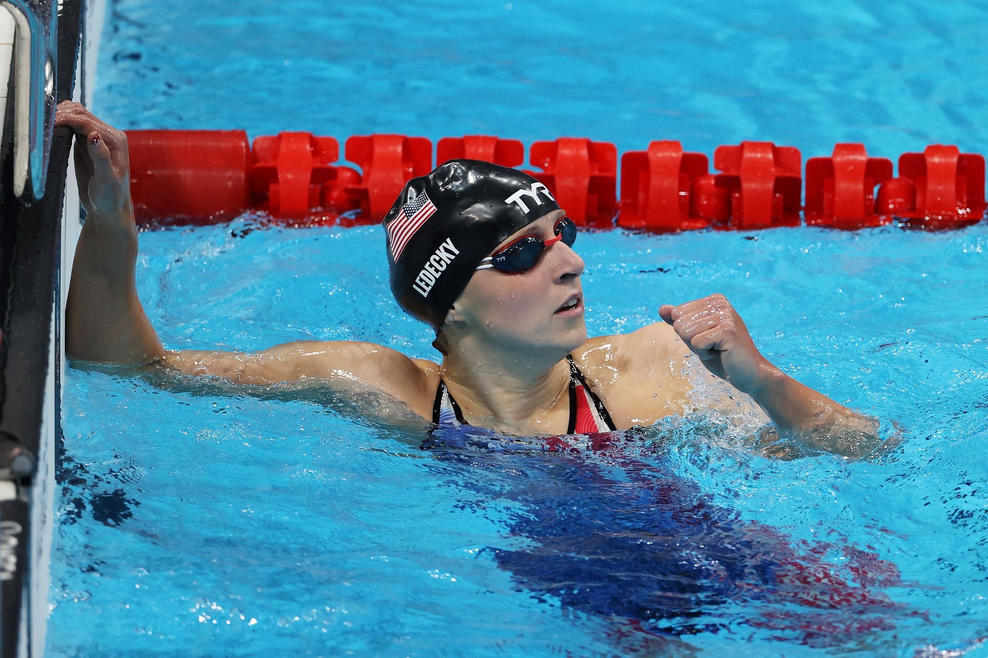
[(65, 351), (70, 358), (154, 364), (236, 384), (309, 380), (340, 390), (383, 393), (431, 418), (439, 377), (436, 364), (379, 345), (301, 341), (257, 353), (166, 350), (137, 298), (137, 229), (126, 135), (71, 102), (59, 104), (55, 125), (75, 132), (76, 177), (86, 210), (65, 311)]

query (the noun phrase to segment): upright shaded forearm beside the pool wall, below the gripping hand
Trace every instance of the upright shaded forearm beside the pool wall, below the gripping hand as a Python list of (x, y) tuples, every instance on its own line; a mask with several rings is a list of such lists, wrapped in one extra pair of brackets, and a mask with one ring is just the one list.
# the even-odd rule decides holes
[(136, 258), (137, 229), (129, 204), (110, 216), (86, 218), (65, 309), (70, 358), (139, 364), (164, 354), (137, 298)]

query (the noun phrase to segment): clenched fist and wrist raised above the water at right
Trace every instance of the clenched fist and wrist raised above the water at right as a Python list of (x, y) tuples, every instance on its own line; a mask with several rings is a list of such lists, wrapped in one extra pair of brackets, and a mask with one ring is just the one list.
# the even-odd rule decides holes
[(672, 325), (703, 365), (738, 391), (755, 395), (779, 375), (762, 356), (748, 328), (723, 295), (659, 308), (659, 315)]

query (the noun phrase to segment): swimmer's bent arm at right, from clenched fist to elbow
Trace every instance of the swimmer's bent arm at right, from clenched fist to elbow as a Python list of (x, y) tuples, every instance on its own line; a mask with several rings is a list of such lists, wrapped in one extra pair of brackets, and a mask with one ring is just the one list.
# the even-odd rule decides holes
[(775, 432), (763, 441), (794, 439), (808, 448), (858, 458), (879, 443), (878, 420), (800, 384), (758, 351), (741, 317), (723, 295), (659, 309), (662, 319), (713, 375), (765, 409)]

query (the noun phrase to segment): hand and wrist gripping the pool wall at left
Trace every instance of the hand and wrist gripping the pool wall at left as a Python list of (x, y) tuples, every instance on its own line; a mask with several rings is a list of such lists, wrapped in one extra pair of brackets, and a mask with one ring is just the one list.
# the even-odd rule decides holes
[(124, 131), (71, 101), (58, 104), (55, 126), (66, 126), (75, 132), (79, 199), (87, 215), (132, 221), (130, 165)]

